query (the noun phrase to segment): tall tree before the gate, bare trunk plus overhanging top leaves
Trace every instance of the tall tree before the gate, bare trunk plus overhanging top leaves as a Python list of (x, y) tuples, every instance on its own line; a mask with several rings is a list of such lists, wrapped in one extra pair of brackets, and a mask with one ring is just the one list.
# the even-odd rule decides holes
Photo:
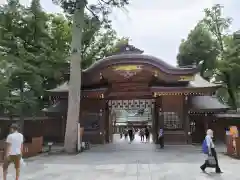
[(100, 22), (105, 22), (106, 25), (108, 25), (109, 20), (107, 19), (107, 15), (111, 12), (111, 8), (121, 8), (125, 4), (128, 4), (128, 0), (99, 0), (98, 4), (89, 6), (87, 0), (56, 1), (61, 4), (66, 12), (73, 14), (68, 98), (69, 102), (64, 148), (66, 152), (76, 152), (77, 123), (79, 122), (81, 96), (81, 52), (84, 29), (84, 11), (85, 9), (88, 9), (90, 12), (92, 12), (93, 16), (96, 18), (96, 21), (100, 20)]

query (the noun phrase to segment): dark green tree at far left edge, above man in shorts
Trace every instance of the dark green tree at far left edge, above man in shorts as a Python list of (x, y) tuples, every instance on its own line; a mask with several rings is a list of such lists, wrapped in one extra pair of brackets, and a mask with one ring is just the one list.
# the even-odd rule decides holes
[[(1, 63), (5, 64), (4, 76), (8, 80), (9, 100), (8, 104), (14, 99), (11, 105), (14, 112), (20, 116), (20, 125), (23, 129), (24, 106), (28, 103), (24, 98), (25, 91), (28, 91), (28, 83), (33, 82), (33, 67), (28, 63), (28, 59), (33, 55), (26, 51), (25, 39), (23, 39), (23, 27), (26, 25), (23, 19), (24, 8), (18, 1), (9, 0), (1, 7)], [(31, 79), (32, 78), (32, 79)], [(31, 79), (31, 80), (30, 80)], [(18, 95), (18, 96), (17, 96)], [(17, 98), (19, 97), (19, 98)], [(33, 106), (30, 106), (33, 107)]]

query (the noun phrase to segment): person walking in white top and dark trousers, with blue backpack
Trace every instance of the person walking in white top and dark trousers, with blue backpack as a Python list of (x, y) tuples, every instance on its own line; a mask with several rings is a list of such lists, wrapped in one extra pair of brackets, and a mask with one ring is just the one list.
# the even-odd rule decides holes
[[(217, 153), (215, 150), (215, 145), (213, 143), (213, 131), (211, 129), (207, 130), (206, 137), (203, 141), (203, 152), (209, 156), (213, 156), (215, 159), (215, 171), (216, 173), (222, 173), (219, 163), (218, 163), (218, 158), (217, 158)], [(207, 167), (212, 167), (211, 164), (208, 162), (208, 160), (205, 160), (205, 163), (200, 166), (201, 170), (205, 172), (205, 169)]]

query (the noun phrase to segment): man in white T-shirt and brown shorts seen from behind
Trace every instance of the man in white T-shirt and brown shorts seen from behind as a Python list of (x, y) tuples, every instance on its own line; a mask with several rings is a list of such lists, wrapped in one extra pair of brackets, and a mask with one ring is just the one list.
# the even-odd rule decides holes
[(3, 163), (3, 180), (7, 180), (8, 166), (13, 163), (16, 169), (16, 180), (19, 180), (20, 161), (22, 158), (23, 135), (18, 132), (18, 125), (12, 124), (6, 140), (5, 159)]

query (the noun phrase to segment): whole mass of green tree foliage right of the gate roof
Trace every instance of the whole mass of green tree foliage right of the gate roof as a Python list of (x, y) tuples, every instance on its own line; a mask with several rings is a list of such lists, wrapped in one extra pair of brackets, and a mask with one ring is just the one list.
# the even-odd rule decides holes
[[(218, 91), (221, 100), (236, 109), (239, 103), (240, 40), (239, 33), (229, 34), (232, 19), (223, 16), (223, 6), (214, 5), (204, 10), (205, 17), (189, 33), (179, 47), (177, 56), (181, 66), (203, 61), (201, 75), (223, 84)], [(210, 76), (209, 76), (210, 75)]]

